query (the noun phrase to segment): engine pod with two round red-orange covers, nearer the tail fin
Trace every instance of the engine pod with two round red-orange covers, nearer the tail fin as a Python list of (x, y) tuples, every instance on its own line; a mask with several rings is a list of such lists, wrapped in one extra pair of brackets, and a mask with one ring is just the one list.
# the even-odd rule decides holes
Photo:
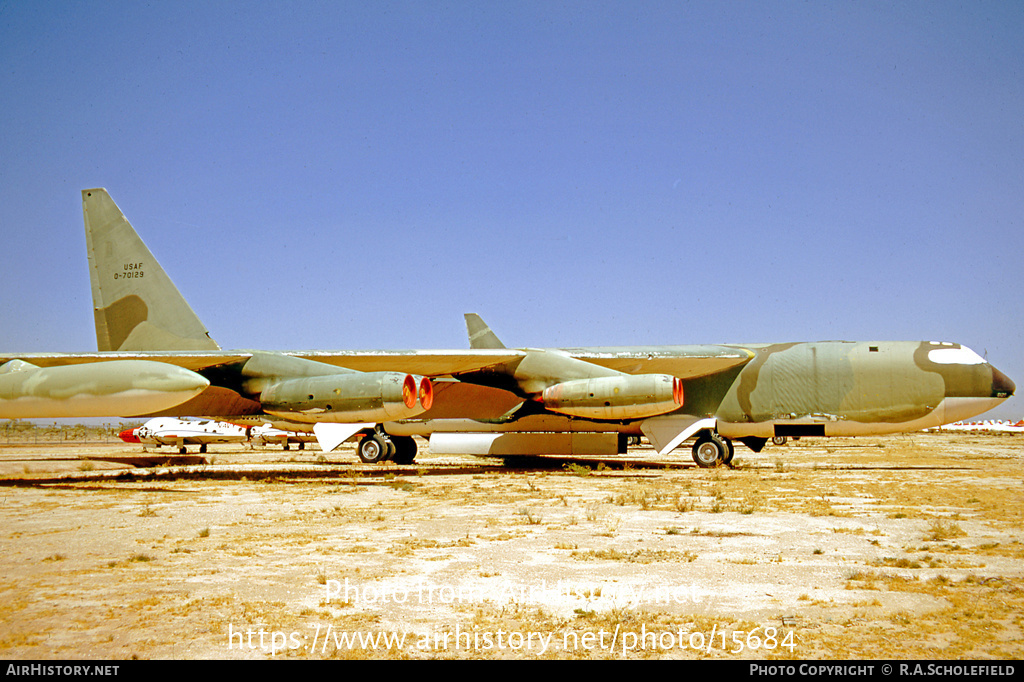
[(433, 384), (399, 372), (329, 374), (278, 381), (260, 395), (263, 410), (299, 422), (386, 422), (421, 415)]

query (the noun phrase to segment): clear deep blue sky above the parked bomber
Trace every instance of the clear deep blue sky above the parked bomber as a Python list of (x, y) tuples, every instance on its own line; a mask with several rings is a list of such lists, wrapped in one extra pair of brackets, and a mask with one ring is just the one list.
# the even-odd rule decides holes
[(0, 348), (95, 348), (102, 186), (225, 348), (475, 311), (949, 340), (1024, 387), (1022, 36), (1017, 0), (0, 1)]

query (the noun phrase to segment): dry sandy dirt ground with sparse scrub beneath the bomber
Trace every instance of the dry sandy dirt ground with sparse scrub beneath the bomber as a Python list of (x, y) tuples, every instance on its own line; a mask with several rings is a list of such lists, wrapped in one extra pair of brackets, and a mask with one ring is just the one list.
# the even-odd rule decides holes
[[(734, 468), (0, 445), (5, 658), (1020, 658), (1024, 436)], [(668, 465), (656, 468), (647, 463)]]

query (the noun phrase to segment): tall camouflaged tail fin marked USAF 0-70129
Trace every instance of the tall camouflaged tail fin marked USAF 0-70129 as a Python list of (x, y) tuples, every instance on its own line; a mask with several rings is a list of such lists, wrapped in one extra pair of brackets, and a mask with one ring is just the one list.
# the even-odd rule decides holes
[(219, 350), (106, 190), (82, 212), (99, 350)]

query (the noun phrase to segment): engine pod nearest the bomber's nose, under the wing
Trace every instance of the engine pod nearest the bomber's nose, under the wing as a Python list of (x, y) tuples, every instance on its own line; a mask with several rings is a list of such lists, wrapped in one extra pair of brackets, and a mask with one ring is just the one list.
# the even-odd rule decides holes
[(622, 375), (563, 381), (541, 402), (552, 412), (589, 419), (642, 419), (683, 404), (683, 382), (667, 374)]

